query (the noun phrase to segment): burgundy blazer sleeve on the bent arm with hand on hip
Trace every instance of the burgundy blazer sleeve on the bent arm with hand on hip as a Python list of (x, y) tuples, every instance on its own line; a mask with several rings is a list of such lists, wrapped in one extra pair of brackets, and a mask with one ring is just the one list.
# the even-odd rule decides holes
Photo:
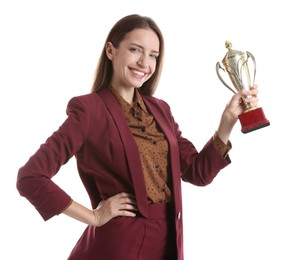
[(86, 105), (72, 98), (67, 119), (18, 171), (17, 189), (37, 209), (44, 220), (60, 214), (71, 203), (71, 197), (51, 178), (82, 146), (89, 118)]

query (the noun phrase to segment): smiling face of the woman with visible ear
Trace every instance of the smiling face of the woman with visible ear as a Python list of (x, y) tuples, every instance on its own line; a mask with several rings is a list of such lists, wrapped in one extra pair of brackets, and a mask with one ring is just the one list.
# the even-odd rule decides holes
[(112, 86), (120, 90), (139, 88), (155, 71), (159, 39), (151, 29), (134, 29), (118, 48), (107, 43), (106, 53), (112, 61)]

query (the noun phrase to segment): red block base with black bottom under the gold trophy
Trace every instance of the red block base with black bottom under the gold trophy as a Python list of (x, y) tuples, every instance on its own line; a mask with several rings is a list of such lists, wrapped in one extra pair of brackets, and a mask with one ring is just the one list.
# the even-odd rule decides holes
[(239, 120), (244, 134), (270, 125), (261, 107), (239, 115)]

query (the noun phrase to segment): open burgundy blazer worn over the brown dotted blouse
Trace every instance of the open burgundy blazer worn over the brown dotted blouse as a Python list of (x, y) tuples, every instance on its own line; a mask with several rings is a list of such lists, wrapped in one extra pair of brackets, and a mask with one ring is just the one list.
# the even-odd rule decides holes
[[(178, 259), (183, 259), (181, 179), (209, 184), (230, 163), (215, 149), (212, 138), (198, 152), (183, 138), (170, 107), (162, 100), (142, 96), (165, 134), (170, 151)], [(147, 217), (147, 194), (138, 147), (123, 113), (107, 89), (74, 97), (67, 119), (27, 163), (20, 168), (17, 188), (44, 220), (60, 214), (71, 197), (51, 178), (72, 156), (92, 207), (120, 192), (134, 193), (139, 212)]]

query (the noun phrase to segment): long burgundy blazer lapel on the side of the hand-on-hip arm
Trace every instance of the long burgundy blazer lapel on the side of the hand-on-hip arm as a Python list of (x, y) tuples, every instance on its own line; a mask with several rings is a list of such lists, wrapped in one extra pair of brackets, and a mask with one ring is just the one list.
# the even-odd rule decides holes
[(116, 99), (114, 98), (110, 90), (105, 88), (98, 91), (97, 94), (101, 97), (104, 104), (111, 113), (113, 120), (115, 121), (115, 124), (117, 126), (117, 129), (120, 133), (122, 143), (125, 147), (130, 173), (132, 176), (138, 209), (143, 216), (147, 217), (148, 215), (147, 192), (146, 192), (144, 175), (139, 156), (139, 150), (136, 141), (132, 135), (128, 123), (124, 118), (124, 115), (119, 107), (119, 104), (117, 103)]

